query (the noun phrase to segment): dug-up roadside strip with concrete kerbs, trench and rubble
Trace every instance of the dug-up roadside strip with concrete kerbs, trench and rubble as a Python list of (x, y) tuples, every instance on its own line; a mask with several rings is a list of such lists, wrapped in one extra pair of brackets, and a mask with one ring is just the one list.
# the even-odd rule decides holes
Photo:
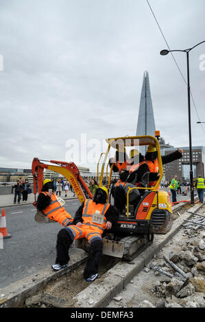
[[(168, 235), (156, 236), (131, 262), (101, 260), (101, 277), (82, 280), (86, 252), (1, 289), (1, 308), (204, 308), (204, 206), (175, 206)], [(195, 213), (195, 214), (193, 214)]]

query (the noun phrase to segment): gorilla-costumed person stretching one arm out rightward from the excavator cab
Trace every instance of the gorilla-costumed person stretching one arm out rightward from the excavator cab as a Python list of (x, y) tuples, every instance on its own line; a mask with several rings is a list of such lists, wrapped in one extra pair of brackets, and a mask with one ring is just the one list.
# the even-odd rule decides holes
[[(162, 165), (173, 162), (174, 160), (178, 160), (182, 158), (182, 149), (178, 149), (173, 153), (169, 153), (167, 156), (162, 156)], [(149, 166), (149, 187), (155, 186), (158, 181), (159, 173), (158, 173), (158, 152), (156, 151), (156, 147), (153, 145), (149, 145), (147, 147), (147, 153), (145, 154), (145, 160)]]

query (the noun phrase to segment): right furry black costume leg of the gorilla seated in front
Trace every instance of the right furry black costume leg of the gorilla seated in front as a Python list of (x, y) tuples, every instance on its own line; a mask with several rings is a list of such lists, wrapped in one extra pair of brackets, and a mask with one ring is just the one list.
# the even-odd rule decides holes
[(103, 243), (101, 240), (98, 239), (91, 243), (88, 251), (88, 261), (84, 269), (84, 279), (87, 279), (89, 276), (98, 273), (102, 249)]

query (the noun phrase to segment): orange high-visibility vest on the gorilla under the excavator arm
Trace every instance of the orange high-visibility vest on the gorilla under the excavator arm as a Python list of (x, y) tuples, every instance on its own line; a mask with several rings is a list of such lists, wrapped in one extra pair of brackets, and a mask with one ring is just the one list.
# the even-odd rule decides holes
[[(48, 193), (45, 193), (45, 191), (41, 193), (43, 193), (45, 196), (48, 195)], [(45, 214), (45, 216), (47, 216), (49, 219), (58, 221), (58, 223), (66, 227), (71, 221), (73, 221), (73, 218), (65, 210), (65, 208), (61, 206), (57, 198), (58, 196), (55, 195), (55, 193), (52, 193), (51, 204), (45, 208), (45, 210), (43, 210), (43, 214)]]

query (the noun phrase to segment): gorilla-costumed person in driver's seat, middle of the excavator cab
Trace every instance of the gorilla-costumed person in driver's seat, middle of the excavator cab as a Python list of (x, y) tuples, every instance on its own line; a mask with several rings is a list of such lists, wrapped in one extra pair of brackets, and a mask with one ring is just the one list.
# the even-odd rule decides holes
[[(149, 182), (149, 167), (144, 156), (137, 149), (130, 151), (130, 159), (127, 159), (127, 168), (119, 173), (121, 184), (114, 188), (114, 206), (123, 212), (127, 201), (127, 193), (130, 187), (146, 188)], [(131, 186), (132, 185), (132, 186)], [(145, 193), (144, 189), (134, 189), (129, 193), (136, 205)], [(133, 198), (134, 197), (134, 198)]]

